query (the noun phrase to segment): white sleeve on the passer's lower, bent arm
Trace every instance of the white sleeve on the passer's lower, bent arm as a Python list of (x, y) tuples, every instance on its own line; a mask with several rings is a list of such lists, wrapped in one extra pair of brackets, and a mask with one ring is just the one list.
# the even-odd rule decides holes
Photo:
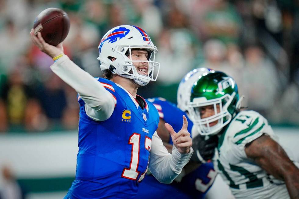
[(173, 145), (172, 154), (168, 153), (157, 132), (153, 134), (149, 157), (149, 170), (160, 183), (171, 183), (189, 162), (193, 149), (181, 154)]

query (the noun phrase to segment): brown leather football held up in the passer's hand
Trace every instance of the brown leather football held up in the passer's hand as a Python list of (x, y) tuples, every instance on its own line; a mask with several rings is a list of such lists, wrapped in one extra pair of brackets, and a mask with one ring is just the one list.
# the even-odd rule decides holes
[(34, 34), (41, 32), (45, 42), (56, 46), (69, 33), (70, 19), (66, 12), (58, 8), (43, 10), (34, 21)]

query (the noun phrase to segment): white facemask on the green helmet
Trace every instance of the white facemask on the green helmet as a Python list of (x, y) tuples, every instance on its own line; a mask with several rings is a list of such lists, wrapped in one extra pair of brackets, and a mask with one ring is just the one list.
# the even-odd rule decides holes
[[(191, 115), (194, 125), (197, 126), (201, 135), (215, 135), (219, 133), (224, 126), (226, 126), (232, 119), (232, 113), (228, 110), (234, 101), (236, 93), (225, 94), (220, 98), (207, 100), (206, 98), (194, 98), (190, 102), (189, 113)], [(206, 106), (213, 106), (214, 115), (206, 118), (201, 118), (201, 108)], [(217, 105), (219, 111), (217, 110)], [(211, 123), (217, 123), (211, 126)]]

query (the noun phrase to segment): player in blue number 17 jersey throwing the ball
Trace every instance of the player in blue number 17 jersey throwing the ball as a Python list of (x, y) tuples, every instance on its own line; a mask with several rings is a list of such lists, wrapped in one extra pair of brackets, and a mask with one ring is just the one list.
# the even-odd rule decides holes
[(78, 93), (76, 178), (65, 199), (133, 198), (148, 168), (171, 183), (189, 161), (192, 141), (185, 116), (178, 133), (165, 124), (174, 143), (169, 154), (156, 132), (156, 108), (136, 94), (157, 79), (160, 66), (146, 32), (122, 25), (104, 35), (98, 59), (105, 78), (93, 78), (63, 54), (62, 44), (49, 45), (33, 32), (33, 43), (55, 61), (52, 71)]

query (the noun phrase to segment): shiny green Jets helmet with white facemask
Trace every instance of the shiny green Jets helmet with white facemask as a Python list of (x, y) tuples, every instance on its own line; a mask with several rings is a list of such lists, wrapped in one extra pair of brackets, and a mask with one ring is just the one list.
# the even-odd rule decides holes
[[(207, 106), (214, 109), (214, 115), (202, 118)], [(215, 71), (200, 76), (192, 87), (189, 113), (201, 135), (218, 134), (239, 109), (237, 84), (225, 73)]]

